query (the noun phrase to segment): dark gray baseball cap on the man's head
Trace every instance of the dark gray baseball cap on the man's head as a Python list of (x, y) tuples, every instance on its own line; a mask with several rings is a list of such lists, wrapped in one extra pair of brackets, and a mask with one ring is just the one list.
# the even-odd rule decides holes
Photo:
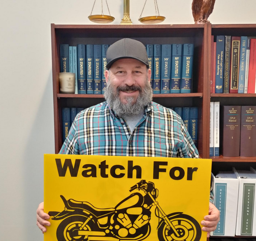
[(149, 67), (146, 47), (135, 39), (123, 38), (113, 43), (107, 50), (106, 58), (107, 69), (121, 58), (134, 58)]

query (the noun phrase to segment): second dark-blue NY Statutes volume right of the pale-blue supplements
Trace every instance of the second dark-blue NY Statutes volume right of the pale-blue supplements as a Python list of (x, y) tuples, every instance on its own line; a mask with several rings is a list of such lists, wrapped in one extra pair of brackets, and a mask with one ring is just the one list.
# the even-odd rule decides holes
[(86, 45), (86, 93), (93, 94), (93, 45)]

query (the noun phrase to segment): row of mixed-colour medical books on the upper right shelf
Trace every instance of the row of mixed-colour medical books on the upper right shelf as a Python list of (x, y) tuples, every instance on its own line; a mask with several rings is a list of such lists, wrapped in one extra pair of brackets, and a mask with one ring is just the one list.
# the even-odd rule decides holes
[(256, 93), (256, 39), (211, 39), (211, 93)]

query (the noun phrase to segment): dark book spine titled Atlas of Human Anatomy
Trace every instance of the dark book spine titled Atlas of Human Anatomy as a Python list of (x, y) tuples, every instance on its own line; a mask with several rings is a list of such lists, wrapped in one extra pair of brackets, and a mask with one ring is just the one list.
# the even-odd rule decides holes
[(229, 93), (231, 36), (225, 36), (225, 67), (223, 93)]

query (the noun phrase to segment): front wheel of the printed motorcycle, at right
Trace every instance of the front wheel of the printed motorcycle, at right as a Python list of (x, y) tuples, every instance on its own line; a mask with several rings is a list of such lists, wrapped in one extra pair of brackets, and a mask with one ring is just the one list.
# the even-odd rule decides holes
[(196, 219), (187, 214), (179, 214), (171, 217), (172, 214), (167, 215), (172, 225), (177, 230), (180, 237), (177, 237), (170, 225), (162, 222), (158, 229), (158, 239), (160, 241), (199, 241), (202, 235), (201, 227)]

